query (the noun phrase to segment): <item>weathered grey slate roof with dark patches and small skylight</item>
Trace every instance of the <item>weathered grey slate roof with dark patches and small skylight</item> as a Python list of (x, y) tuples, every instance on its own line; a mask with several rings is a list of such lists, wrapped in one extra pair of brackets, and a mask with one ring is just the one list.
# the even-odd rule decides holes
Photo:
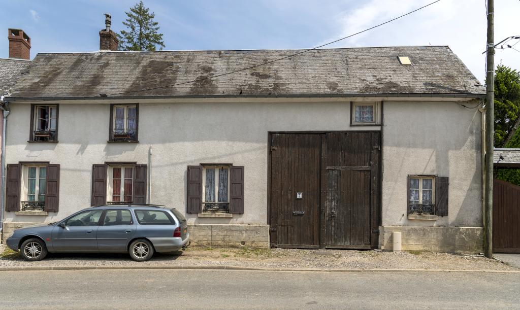
[[(168, 88), (301, 50), (38, 53), (11, 97), (444, 94), (485, 88), (448, 46), (317, 49), (258, 68)], [(397, 56), (408, 56), (402, 65)], [(126, 93), (130, 92), (130, 93)], [(449, 96), (448, 96), (449, 97)]]

